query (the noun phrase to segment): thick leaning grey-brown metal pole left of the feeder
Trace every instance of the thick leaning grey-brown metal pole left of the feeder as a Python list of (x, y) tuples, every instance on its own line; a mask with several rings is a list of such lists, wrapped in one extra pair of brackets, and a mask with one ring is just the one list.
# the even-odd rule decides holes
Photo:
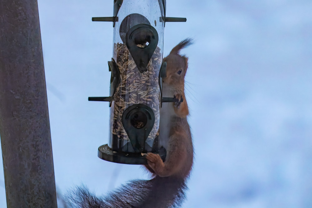
[(7, 207), (57, 207), (37, 0), (0, 1), (0, 135)]

